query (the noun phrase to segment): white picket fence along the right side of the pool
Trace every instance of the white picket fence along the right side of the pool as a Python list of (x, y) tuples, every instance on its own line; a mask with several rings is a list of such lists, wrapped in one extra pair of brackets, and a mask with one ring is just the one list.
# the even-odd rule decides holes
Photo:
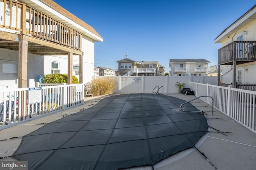
[[(196, 97), (211, 96), (214, 108), (256, 133), (255, 91), (194, 82), (191, 82), (190, 88), (195, 91)], [(200, 99), (212, 106), (212, 100)]]

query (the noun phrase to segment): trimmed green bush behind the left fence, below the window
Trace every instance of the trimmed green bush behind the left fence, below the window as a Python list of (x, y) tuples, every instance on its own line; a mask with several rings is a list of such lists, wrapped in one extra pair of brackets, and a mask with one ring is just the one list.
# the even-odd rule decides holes
[[(47, 74), (43, 77), (43, 83), (67, 83), (68, 74)], [(72, 84), (78, 84), (78, 78), (72, 77)]]

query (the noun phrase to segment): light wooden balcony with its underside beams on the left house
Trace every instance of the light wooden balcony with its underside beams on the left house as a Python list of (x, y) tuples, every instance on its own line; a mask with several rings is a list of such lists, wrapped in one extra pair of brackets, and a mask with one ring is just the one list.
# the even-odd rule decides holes
[(0, 30), (4, 32), (0, 36), (1, 48), (18, 51), (15, 37), (26, 35), (28, 53), (67, 55), (67, 51), (74, 50), (74, 55), (81, 54), (82, 33), (26, 4), (10, 0), (0, 3), (6, 9), (0, 18)]

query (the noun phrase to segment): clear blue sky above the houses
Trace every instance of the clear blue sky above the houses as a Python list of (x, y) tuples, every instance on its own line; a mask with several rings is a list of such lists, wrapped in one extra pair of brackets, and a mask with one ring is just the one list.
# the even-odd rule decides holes
[(116, 61), (206, 59), (218, 64), (214, 39), (256, 4), (256, 0), (54, 0), (102, 36), (95, 42), (95, 66)]

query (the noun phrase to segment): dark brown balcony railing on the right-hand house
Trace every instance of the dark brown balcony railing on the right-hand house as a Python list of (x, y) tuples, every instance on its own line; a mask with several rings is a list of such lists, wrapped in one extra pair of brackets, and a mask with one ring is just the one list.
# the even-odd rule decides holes
[(256, 41), (233, 41), (218, 50), (218, 64), (256, 61)]

